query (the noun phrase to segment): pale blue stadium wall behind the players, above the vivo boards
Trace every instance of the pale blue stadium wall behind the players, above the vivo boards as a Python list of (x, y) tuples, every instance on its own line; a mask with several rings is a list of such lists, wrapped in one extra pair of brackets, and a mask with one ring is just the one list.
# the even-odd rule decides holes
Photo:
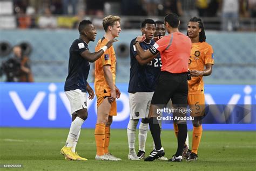
[[(117, 52), (117, 82), (129, 81), (129, 44), (140, 32), (122, 31), (114, 44)], [(103, 36), (98, 31), (97, 39)], [(76, 30), (3, 30), (1, 41), (12, 46), (30, 42), (32, 71), (36, 82), (64, 82), (68, 73), (70, 42), (78, 37)], [(255, 84), (255, 40), (254, 33), (207, 31), (207, 41), (213, 46), (215, 65), (206, 83)], [(47, 42), (47, 43), (42, 43)], [(90, 42), (90, 51), (95, 51), (96, 42)], [(2, 57), (4, 61), (8, 56)], [(246, 76), (245, 76), (246, 75)], [(92, 81), (90, 77), (89, 81)]]

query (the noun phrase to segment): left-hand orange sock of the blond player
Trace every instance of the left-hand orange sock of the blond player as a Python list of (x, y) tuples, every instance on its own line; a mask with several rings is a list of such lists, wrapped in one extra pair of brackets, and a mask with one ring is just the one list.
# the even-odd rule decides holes
[(97, 155), (104, 155), (104, 144), (105, 144), (105, 124), (96, 124), (95, 126), (95, 141)]

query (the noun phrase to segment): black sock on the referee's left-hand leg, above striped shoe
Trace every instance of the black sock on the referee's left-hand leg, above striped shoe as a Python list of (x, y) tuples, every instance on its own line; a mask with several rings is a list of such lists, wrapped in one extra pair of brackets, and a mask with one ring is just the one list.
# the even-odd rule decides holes
[(159, 150), (161, 149), (162, 145), (161, 145), (161, 138), (160, 138), (161, 130), (160, 130), (160, 126), (158, 124), (157, 118), (156, 117), (149, 118), (149, 125), (150, 125), (150, 132), (154, 140), (154, 145), (156, 146), (156, 150)]

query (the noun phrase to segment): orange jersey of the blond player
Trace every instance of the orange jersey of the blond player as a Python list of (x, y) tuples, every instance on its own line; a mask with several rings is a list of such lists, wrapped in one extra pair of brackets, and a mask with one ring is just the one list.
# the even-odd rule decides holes
[[(95, 51), (99, 51), (100, 48), (107, 44), (107, 39), (104, 37), (100, 39), (95, 47)], [(105, 77), (103, 66), (110, 65), (111, 72), (113, 76), (113, 82), (116, 82), (116, 54), (114, 53), (114, 48), (111, 46), (108, 48), (102, 56), (95, 62), (95, 93), (96, 95), (101, 95), (106, 92), (110, 92), (110, 87), (107, 84)]]

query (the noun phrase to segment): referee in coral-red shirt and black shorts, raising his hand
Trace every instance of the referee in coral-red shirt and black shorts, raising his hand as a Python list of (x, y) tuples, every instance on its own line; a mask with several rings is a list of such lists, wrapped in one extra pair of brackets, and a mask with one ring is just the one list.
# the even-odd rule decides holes
[[(156, 149), (144, 161), (153, 161), (165, 154), (164, 148), (161, 146), (157, 109), (166, 106), (170, 99), (175, 106), (187, 105), (188, 86), (186, 73), (188, 71), (188, 60), (192, 43), (190, 38), (179, 32), (178, 26), (180, 21), (176, 13), (166, 15), (164, 22), (169, 35), (159, 39), (150, 49), (144, 51), (138, 43), (145, 39), (145, 35), (138, 36), (134, 42), (140, 58), (145, 60), (160, 52), (162, 61), (159, 81), (154, 91), (149, 111), (150, 131)], [(180, 113), (178, 114), (180, 115)], [(187, 125), (185, 120), (174, 122), (178, 124), (179, 129), (178, 148), (176, 154), (169, 161), (182, 161), (182, 152), (187, 136)]]

